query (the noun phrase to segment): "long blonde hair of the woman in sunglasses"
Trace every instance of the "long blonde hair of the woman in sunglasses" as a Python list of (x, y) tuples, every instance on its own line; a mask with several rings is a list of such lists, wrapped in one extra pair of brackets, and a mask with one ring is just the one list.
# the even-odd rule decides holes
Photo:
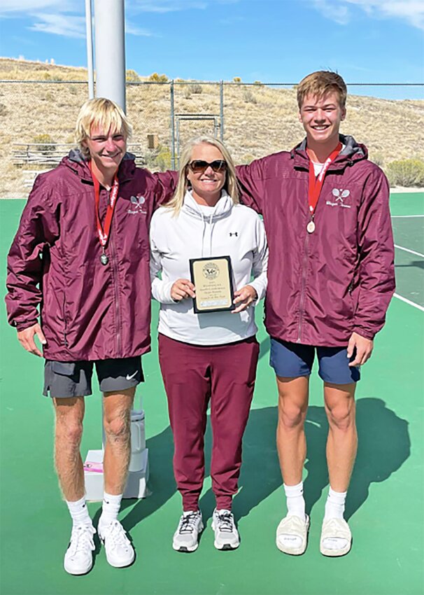
[(174, 197), (165, 205), (169, 209), (174, 209), (174, 216), (177, 216), (178, 213), (181, 211), (181, 207), (183, 207), (185, 193), (187, 192), (188, 188), (190, 187), (190, 183), (187, 177), (188, 171), (188, 164), (192, 159), (192, 151), (193, 148), (197, 145), (201, 144), (208, 144), (212, 145), (219, 149), (222, 153), (222, 157), (227, 162), (227, 175), (225, 176), (225, 184), (224, 188), (227, 190), (227, 193), (230, 197), (232, 197), (232, 202), (237, 204), (239, 202), (239, 186), (237, 183), (236, 178), (236, 167), (234, 165), (234, 161), (232, 160), (232, 156), (229, 154), (227, 147), (222, 144), (221, 141), (215, 139), (215, 137), (196, 137), (194, 139), (190, 139), (188, 143), (183, 146), (183, 150), (181, 151), (180, 155), (180, 167), (178, 169), (178, 184), (175, 190)]

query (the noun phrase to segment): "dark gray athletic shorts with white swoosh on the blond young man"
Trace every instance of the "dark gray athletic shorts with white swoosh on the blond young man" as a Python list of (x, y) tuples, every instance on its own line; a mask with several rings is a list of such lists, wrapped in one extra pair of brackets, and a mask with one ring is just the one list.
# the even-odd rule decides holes
[(97, 361), (60, 362), (45, 360), (43, 395), (54, 398), (92, 394), (93, 364), (102, 393), (123, 391), (144, 380), (141, 356)]

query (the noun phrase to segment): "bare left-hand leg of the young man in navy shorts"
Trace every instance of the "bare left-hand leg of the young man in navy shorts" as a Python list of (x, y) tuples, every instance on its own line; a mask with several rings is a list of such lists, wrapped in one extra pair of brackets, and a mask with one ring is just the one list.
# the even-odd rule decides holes
[(278, 386), (277, 450), (286, 485), (302, 481), (306, 457), (304, 422), (308, 409), (309, 377), (276, 377)]

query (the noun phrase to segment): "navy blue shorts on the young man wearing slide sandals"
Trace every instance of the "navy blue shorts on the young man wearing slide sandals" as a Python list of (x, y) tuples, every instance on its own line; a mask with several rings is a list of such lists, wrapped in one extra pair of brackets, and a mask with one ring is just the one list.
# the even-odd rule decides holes
[(309, 376), (315, 351), (318, 355), (318, 374), (331, 384), (351, 384), (360, 379), (359, 366), (349, 367), (355, 353), (348, 359), (346, 347), (314, 347), (300, 343), (288, 343), (271, 337), (269, 363), (277, 376), (297, 378)]

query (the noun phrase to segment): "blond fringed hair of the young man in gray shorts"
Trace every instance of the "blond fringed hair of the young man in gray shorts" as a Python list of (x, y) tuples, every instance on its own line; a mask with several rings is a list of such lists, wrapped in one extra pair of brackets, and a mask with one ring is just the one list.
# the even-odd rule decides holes
[(78, 143), (81, 153), (88, 157), (90, 151), (83, 142), (90, 137), (92, 127), (98, 127), (108, 132), (120, 132), (128, 140), (132, 134), (132, 125), (128, 122), (127, 116), (118, 104), (111, 99), (96, 97), (88, 99), (80, 109), (76, 119), (75, 140)]

